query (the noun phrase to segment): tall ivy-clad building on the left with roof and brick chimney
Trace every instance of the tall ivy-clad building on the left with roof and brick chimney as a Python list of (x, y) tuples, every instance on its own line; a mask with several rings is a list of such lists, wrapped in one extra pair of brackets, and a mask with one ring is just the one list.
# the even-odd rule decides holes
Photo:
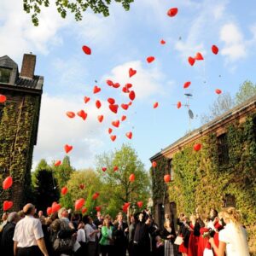
[(0, 57), (0, 183), (13, 177), (13, 186), (1, 186), (0, 203), (13, 201), (12, 211), (20, 210), (31, 192), (33, 148), (37, 144), (38, 120), (44, 78), (34, 75), (36, 55), (25, 54), (18, 65), (5, 55)]

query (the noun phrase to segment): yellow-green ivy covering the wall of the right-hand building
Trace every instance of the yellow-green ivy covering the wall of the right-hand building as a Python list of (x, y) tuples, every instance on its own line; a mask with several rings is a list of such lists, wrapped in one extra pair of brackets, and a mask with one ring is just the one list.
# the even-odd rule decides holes
[[(221, 210), (224, 196), (233, 195), (236, 208), (241, 210), (243, 224), (250, 234), (250, 245), (256, 241), (256, 114), (248, 116), (244, 123), (233, 123), (226, 128), (229, 160), (219, 163), (218, 137), (212, 133), (201, 137), (200, 151), (188, 144), (172, 157), (174, 180), (168, 184), (169, 201), (177, 204), (177, 212), (190, 214), (199, 207), (207, 214), (212, 207)], [(152, 170), (154, 201), (164, 195), (163, 177), (167, 163), (165, 157), (157, 160)], [(253, 249), (252, 249), (253, 250)], [(256, 250), (255, 250), (256, 252)]]

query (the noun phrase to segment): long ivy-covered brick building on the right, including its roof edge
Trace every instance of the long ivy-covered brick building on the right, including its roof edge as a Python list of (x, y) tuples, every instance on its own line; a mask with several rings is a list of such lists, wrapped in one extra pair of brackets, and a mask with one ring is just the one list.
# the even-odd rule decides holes
[[(201, 144), (200, 151), (195, 143)], [(151, 174), (154, 218), (160, 226), (165, 213), (176, 223), (179, 212), (207, 216), (211, 208), (233, 206), (241, 210), (256, 253), (256, 96), (150, 160), (157, 163)], [(171, 175), (170, 183), (164, 182), (165, 174)]]

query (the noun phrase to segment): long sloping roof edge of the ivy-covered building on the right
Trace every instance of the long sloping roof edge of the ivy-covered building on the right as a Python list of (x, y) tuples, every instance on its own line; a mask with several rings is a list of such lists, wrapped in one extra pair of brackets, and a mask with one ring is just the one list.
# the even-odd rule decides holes
[(256, 96), (253, 96), (252, 98), (248, 99), (246, 102), (239, 104), (235, 108), (231, 108), (227, 112), (220, 115), (218, 118), (213, 119), (212, 121), (207, 123), (206, 125), (202, 125), (201, 127), (195, 129), (194, 131), (189, 132), (188, 134), (179, 138), (176, 142), (172, 143), (168, 147), (161, 149), (160, 152), (154, 154), (154, 156), (152, 156), (149, 160), (152, 161), (159, 158), (161, 155), (164, 155), (170, 149), (179, 146), (181, 143), (185, 144), (187, 141), (190, 141), (193, 137), (203, 134), (204, 131), (212, 131), (213, 127), (216, 127), (218, 125), (224, 125), (225, 120), (229, 119), (230, 117), (233, 117), (235, 119), (237, 113), (246, 111), (246, 109), (250, 107), (256, 108)]

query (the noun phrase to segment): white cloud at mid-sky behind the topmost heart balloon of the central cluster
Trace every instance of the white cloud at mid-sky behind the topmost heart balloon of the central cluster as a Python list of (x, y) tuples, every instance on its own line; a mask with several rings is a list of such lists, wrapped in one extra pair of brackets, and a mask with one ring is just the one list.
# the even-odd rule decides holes
[[(164, 75), (160, 72), (156, 61), (146, 65), (148, 65), (148, 68), (143, 67), (142, 61), (130, 61), (113, 67), (111, 73), (104, 76), (102, 82), (106, 79), (113, 79), (113, 82), (119, 82), (119, 84), (123, 85), (131, 83), (138, 100), (159, 95), (162, 89), (161, 82), (165, 79)], [(130, 67), (137, 70), (137, 74), (131, 77), (131, 79), (128, 74)]]

